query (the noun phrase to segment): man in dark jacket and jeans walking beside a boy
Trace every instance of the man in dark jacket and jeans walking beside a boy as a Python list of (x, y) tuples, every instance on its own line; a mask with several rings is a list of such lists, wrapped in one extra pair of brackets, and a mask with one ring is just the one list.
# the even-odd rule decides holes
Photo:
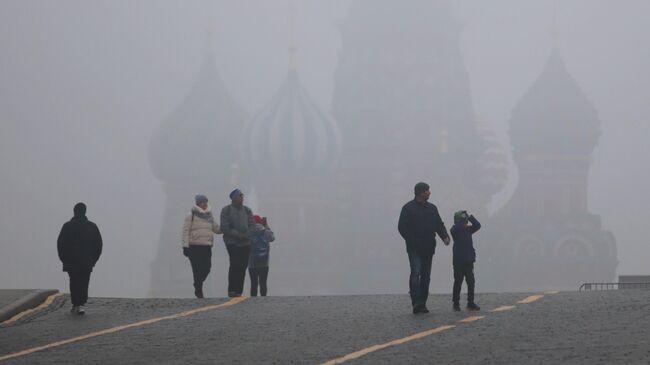
[(436, 251), (436, 233), (445, 245), (449, 234), (440, 218), (438, 208), (429, 203), (429, 185), (419, 182), (414, 188), (415, 198), (402, 207), (398, 230), (406, 241), (406, 252), (411, 266), (409, 288), (413, 313), (429, 313), (427, 298), (431, 281), (431, 261)]

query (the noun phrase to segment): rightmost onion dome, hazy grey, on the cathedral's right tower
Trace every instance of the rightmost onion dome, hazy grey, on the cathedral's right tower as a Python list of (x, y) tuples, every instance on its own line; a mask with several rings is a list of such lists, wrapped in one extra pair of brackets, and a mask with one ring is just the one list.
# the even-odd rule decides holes
[(523, 155), (590, 155), (598, 143), (600, 121), (558, 51), (512, 113), (510, 139), (515, 159)]

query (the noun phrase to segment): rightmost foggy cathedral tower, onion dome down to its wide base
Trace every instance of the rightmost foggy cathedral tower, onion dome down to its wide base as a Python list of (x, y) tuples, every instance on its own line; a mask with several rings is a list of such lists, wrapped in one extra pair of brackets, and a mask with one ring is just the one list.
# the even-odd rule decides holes
[(490, 290), (570, 290), (615, 279), (614, 237), (587, 204), (599, 134), (596, 110), (553, 49), (512, 112), (519, 184), (486, 225), (481, 267)]

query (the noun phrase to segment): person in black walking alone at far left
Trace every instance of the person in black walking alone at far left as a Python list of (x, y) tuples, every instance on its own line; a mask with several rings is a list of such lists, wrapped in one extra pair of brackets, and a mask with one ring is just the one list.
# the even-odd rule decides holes
[(70, 276), (72, 313), (84, 314), (90, 273), (102, 254), (102, 236), (97, 225), (86, 218), (86, 205), (74, 206), (74, 217), (61, 228), (57, 240), (63, 271)]

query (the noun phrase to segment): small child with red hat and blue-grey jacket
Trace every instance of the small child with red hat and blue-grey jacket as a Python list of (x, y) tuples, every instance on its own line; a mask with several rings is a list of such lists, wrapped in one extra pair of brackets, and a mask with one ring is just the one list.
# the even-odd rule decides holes
[(266, 217), (253, 216), (255, 229), (251, 237), (251, 254), (248, 259), (248, 276), (251, 279), (251, 297), (257, 296), (259, 284), (260, 295), (265, 297), (268, 293), (266, 285), (269, 277), (270, 242), (275, 241), (275, 235), (269, 228)]

